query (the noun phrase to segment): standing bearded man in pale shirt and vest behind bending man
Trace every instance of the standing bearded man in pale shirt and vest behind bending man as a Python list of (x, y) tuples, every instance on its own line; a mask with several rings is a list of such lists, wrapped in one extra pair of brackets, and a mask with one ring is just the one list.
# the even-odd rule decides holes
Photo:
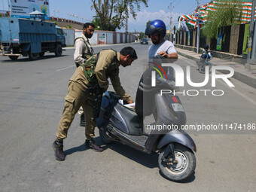
[[(81, 66), (90, 56), (93, 56), (93, 47), (90, 45), (89, 38), (92, 38), (94, 32), (93, 23), (84, 23), (83, 33), (80, 37), (75, 39), (75, 53), (74, 61), (77, 67)], [(78, 110), (80, 114), (80, 126), (85, 126), (83, 108)]]

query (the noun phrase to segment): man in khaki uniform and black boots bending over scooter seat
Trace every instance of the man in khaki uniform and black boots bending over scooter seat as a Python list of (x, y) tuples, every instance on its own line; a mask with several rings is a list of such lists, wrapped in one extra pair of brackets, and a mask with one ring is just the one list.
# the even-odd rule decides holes
[(93, 141), (95, 119), (99, 114), (100, 98), (102, 93), (108, 90), (108, 78), (114, 87), (114, 91), (126, 102), (133, 103), (133, 99), (123, 90), (119, 78), (119, 66), (130, 66), (137, 59), (133, 47), (124, 47), (117, 53), (115, 50), (102, 50), (87, 59), (82, 66), (76, 69), (69, 80), (68, 95), (65, 97), (64, 110), (59, 121), (56, 140), (53, 149), (56, 160), (65, 160), (63, 152), (63, 139), (71, 123), (82, 106), (86, 120), (85, 144), (93, 151), (101, 152), (103, 149)]

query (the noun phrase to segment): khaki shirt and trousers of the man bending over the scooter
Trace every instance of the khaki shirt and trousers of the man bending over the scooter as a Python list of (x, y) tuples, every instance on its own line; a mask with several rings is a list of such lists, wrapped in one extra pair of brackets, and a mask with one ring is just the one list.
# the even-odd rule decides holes
[[(131, 97), (120, 84), (119, 61), (120, 53), (114, 50), (102, 50), (95, 68), (96, 81), (99, 87), (105, 90), (108, 88), (108, 78), (110, 78), (115, 92), (127, 102), (131, 102)], [(64, 110), (56, 133), (57, 140), (62, 141), (66, 138), (69, 126), (81, 106), (84, 109), (86, 120), (85, 136), (87, 140), (93, 140), (96, 123), (93, 120), (94, 103), (90, 102), (89, 98), (95, 99), (96, 95), (90, 93), (89, 90), (94, 86), (85, 78), (83, 67), (79, 66), (69, 80), (68, 95), (65, 97)]]

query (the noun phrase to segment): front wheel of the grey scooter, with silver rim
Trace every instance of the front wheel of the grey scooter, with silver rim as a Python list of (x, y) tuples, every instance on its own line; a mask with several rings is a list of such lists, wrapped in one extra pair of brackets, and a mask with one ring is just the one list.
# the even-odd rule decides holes
[(158, 165), (160, 171), (166, 178), (171, 181), (184, 181), (194, 173), (196, 169), (196, 157), (190, 148), (175, 144), (175, 160), (173, 163), (172, 154), (169, 154), (166, 159), (163, 158), (164, 151), (159, 154)]

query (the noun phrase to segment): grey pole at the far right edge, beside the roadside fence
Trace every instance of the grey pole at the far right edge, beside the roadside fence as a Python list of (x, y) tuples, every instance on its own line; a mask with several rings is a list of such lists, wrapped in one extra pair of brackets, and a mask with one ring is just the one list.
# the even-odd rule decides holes
[(255, 51), (256, 51), (256, 25), (254, 25), (254, 14), (255, 14), (255, 0), (251, 3), (251, 23), (250, 23), (250, 33), (248, 41), (248, 54), (247, 54), (247, 64), (249, 69), (256, 69), (256, 65), (251, 66), (251, 64), (256, 64)]

